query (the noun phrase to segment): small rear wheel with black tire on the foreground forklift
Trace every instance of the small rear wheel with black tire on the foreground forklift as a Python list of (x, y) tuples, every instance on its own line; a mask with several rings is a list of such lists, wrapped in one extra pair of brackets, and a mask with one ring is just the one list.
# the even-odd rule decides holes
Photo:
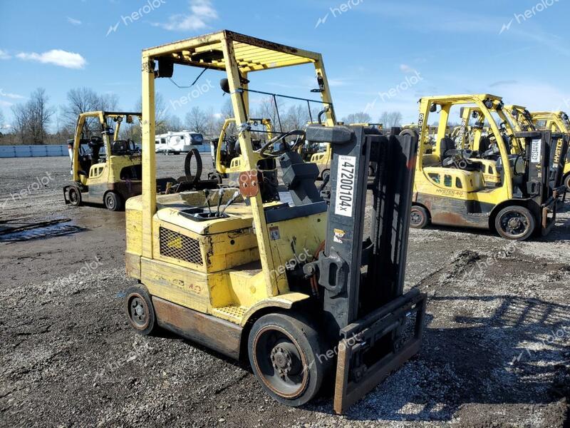
[(155, 307), (146, 287), (133, 285), (125, 292), (125, 314), (133, 329), (143, 336), (157, 330)]

